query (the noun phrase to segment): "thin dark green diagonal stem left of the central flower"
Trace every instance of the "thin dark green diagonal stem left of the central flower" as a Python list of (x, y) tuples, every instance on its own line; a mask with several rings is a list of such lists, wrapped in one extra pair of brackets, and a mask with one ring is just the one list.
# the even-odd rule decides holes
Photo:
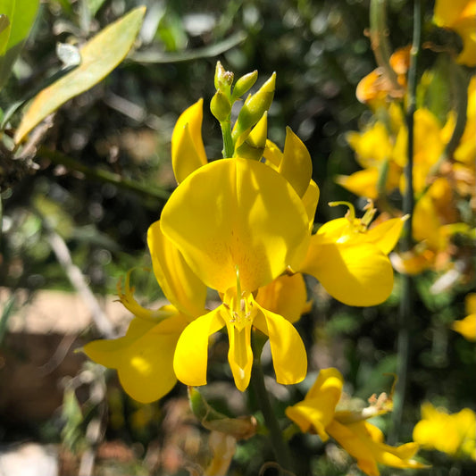
[(170, 194), (169, 192), (163, 190), (162, 188), (150, 188), (144, 184), (138, 183), (134, 180), (125, 179), (117, 173), (110, 171), (104, 171), (98, 167), (90, 167), (83, 163), (80, 163), (72, 157), (62, 154), (61, 152), (48, 149), (46, 147), (40, 147), (38, 150), (38, 155), (46, 157), (53, 163), (64, 165), (67, 169), (71, 171), (79, 171), (83, 173), (86, 177), (94, 180), (98, 180), (105, 183), (112, 183), (113, 185), (119, 188), (125, 188), (133, 192), (138, 193), (141, 196), (159, 198), (161, 200), (166, 200)]

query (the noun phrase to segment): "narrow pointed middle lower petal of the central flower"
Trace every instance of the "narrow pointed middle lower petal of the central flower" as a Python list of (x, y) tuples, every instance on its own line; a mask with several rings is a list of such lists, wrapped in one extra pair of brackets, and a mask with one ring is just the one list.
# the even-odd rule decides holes
[(238, 330), (226, 320), (230, 350), (228, 361), (231, 373), (238, 390), (244, 392), (249, 385), (251, 368), (253, 366), (253, 351), (251, 349), (251, 323)]

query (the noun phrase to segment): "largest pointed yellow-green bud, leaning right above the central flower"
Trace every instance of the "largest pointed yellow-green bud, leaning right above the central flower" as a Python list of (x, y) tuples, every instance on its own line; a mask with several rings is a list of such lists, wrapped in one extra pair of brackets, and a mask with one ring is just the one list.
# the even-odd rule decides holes
[(268, 111), (274, 96), (275, 86), (276, 73), (273, 72), (271, 78), (254, 95), (246, 98), (245, 104), (238, 113), (238, 119), (232, 132), (235, 142), (246, 129), (253, 127), (263, 117), (265, 111)]

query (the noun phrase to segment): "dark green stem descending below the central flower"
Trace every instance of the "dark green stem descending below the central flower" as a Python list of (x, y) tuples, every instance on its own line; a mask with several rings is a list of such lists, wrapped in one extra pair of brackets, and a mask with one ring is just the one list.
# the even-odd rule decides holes
[(255, 361), (253, 362), (253, 372), (251, 372), (251, 383), (255, 389), (258, 405), (260, 405), (260, 409), (263, 413), (266, 428), (269, 430), (274, 457), (282, 469), (292, 472), (293, 469), (289, 447), (282, 436), (280, 423), (272, 410), (270, 396), (264, 386), (264, 375), (260, 362), (261, 352), (257, 352), (256, 349), (254, 349), (254, 354)]

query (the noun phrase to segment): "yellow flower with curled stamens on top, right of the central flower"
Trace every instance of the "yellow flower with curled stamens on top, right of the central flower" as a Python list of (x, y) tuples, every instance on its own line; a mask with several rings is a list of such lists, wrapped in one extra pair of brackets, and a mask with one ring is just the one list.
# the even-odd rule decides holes
[(376, 212), (372, 205), (362, 219), (355, 218), (351, 204), (344, 205), (349, 207), (347, 216), (328, 221), (317, 230), (298, 270), (312, 274), (330, 296), (344, 304), (378, 305), (393, 288), (388, 254), (396, 246), (407, 217), (382, 221), (368, 229)]

